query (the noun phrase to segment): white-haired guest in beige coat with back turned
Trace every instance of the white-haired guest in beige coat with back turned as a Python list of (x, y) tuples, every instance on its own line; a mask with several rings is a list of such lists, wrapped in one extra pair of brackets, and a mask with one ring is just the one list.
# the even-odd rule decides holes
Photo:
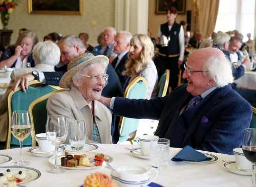
[(52, 41), (38, 42), (33, 49), (33, 59), (35, 60), (34, 68), (18, 68), (13, 69), (11, 74), (11, 82), (0, 100), (0, 142), (5, 142), (8, 129), (8, 95), (16, 79), (23, 74), (32, 71), (54, 72), (54, 66), (59, 62), (60, 51), (58, 45)]

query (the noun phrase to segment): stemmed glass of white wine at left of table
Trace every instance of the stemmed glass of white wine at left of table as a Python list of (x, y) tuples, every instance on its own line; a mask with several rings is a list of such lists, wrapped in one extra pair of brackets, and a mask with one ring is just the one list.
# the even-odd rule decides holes
[(29, 161), (25, 161), (22, 159), (23, 141), (31, 133), (31, 119), (29, 111), (16, 110), (12, 112), (11, 133), (14, 137), (16, 137), (19, 140), (20, 147), (19, 160), (13, 162), (12, 164), (17, 166), (29, 165)]

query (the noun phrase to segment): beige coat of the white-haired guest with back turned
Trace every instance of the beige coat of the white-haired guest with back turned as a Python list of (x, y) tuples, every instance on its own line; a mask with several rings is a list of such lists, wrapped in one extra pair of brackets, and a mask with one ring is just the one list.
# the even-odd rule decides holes
[(0, 142), (5, 142), (7, 139), (7, 130), (8, 130), (8, 96), (12, 90), (14, 82), (22, 75), (33, 72), (33, 71), (42, 71), (42, 72), (54, 72), (54, 67), (48, 64), (37, 64), (33, 68), (17, 68), (13, 69), (11, 74), (11, 82), (2, 98), (0, 99)]

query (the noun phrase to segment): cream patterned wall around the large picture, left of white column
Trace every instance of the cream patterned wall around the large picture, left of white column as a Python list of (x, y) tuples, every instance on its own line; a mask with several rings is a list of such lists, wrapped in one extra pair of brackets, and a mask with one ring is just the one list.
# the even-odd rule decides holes
[[(93, 20), (96, 25), (92, 24)], [(28, 1), (23, 0), (11, 15), (8, 29), (13, 30), (11, 43), (15, 43), (20, 28), (27, 28), (34, 31), (39, 40), (50, 32), (62, 35), (88, 32), (89, 43), (96, 45), (100, 31), (114, 24), (115, 0), (82, 0), (82, 15), (29, 14)]]

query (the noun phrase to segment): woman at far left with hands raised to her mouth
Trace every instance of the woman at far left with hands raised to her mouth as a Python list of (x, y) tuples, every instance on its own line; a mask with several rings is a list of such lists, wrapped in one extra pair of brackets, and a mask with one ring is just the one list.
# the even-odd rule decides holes
[(35, 62), (31, 52), (37, 41), (37, 36), (33, 32), (24, 31), (21, 33), (15, 45), (7, 48), (1, 56), (0, 67), (34, 67)]

